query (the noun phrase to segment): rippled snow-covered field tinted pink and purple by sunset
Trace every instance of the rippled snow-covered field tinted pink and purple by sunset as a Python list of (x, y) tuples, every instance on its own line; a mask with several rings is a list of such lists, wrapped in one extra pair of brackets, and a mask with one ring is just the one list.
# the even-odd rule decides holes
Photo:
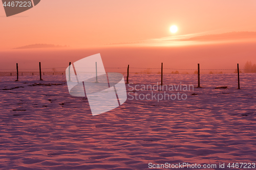
[[(65, 75), (42, 78), (0, 77), (0, 169), (256, 163), (256, 74), (241, 74), (240, 90), (236, 74), (201, 75), (203, 88), (168, 91), (186, 100), (159, 102), (136, 100), (136, 92), (152, 91), (133, 89), (157, 84), (159, 74), (130, 75), (127, 101), (97, 116), (86, 98), (69, 94)], [(166, 74), (163, 82), (196, 87), (197, 75)], [(215, 89), (221, 86), (227, 88)]]

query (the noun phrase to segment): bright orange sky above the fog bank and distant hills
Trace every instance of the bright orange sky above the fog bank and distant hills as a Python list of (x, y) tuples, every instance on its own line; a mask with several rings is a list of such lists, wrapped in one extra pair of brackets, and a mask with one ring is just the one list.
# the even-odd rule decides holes
[(89, 47), (175, 35), (256, 31), (256, 1), (42, 0), (6, 17), (0, 7), (0, 49), (35, 43)]

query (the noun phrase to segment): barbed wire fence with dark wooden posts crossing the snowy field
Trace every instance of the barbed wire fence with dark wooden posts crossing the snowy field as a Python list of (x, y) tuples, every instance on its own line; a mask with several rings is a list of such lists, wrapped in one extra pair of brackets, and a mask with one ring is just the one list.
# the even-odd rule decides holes
[[(70, 63), (71, 64), (71, 63)], [(148, 83), (145, 80), (145, 75), (156, 77), (156, 81), (161, 81), (160, 85), (168, 82), (166, 80), (171, 79), (172, 82), (179, 83), (181, 80), (190, 80), (194, 84), (198, 84), (197, 87), (204, 87), (206, 84), (220, 86), (220, 88), (226, 88), (227, 86), (236, 87), (240, 89), (240, 85), (243, 87), (254, 86), (256, 83), (256, 74), (246, 74), (241, 77), (242, 72), (256, 72), (254, 69), (240, 69), (239, 64), (237, 69), (181, 69), (181, 68), (164, 68), (163, 64), (158, 68), (148, 67), (105, 67), (106, 72), (119, 72), (126, 78), (126, 83), (129, 83), (129, 78), (141, 77), (140, 82)], [(39, 62), (40, 67), (40, 62)], [(95, 67), (92, 67), (95, 68)], [(0, 69), (1, 76), (16, 76), (18, 81), (19, 76), (50, 76), (50, 75), (66, 75), (67, 67), (55, 67), (55, 68), (22, 68), (18, 69)], [(86, 68), (82, 68), (83, 70)], [(109, 71), (111, 70), (111, 71)], [(131, 71), (130, 71), (131, 70)], [(188, 73), (188, 71), (190, 73)], [(192, 72), (192, 73), (191, 73)], [(203, 74), (200, 74), (203, 72)], [(208, 72), (205, 74), (205, 72)], [(226, 73), (228, 72), (228, 73)], [(82, 71), (77, 72), (82, 73)], [(132, 75), (131, 75), (132, 74)], [(171, 78), (170, 78), (171, 77)], [(241, 77), (241, 78), (240, 78)], [(164, 79), (164, 80), (163, 80)], [(241, 79), (241, 80), (240, 80)], [(164, 82), (163, 82), (164, 81)]]

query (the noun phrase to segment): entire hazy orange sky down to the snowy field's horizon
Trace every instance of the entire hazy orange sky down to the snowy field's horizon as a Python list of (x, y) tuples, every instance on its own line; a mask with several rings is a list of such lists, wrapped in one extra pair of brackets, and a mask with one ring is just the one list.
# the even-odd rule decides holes
[[(246, 61), (256, 63), (256, 33), (249, 34), (254, 39), (233, 41), (240, 35), (229, 32), (256, 32), (255, 7), (255, 0), (42, 0), (10, 17), (0, 7), (0, 72), (15, 70), (16, 63), (66, 67), (97, 53), (106, 67), (155, 68), (164, 62), (191, 71), (197, 63), (203, 69), (234, 69), (237, 63), (243, 68)], [(176, 34), (169, 31), (172, 25), (179, 28)], [(208, 34), (222, 38), (197, 37)], [(183, 38), (193, 41), (178, 41)], [(12, 50), (38, 43), (70, 47)]]

